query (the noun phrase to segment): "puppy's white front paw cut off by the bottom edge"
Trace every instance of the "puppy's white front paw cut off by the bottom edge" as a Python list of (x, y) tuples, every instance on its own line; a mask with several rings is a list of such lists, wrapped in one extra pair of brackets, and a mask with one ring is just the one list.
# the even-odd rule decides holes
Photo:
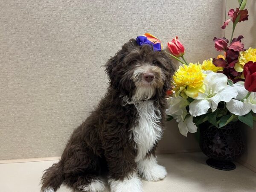
[(111, 192), (143, 192), (141, 180), (137, 177), (137, 174), (133, 174), (123, 180), (108, 181), (110, 184)]

